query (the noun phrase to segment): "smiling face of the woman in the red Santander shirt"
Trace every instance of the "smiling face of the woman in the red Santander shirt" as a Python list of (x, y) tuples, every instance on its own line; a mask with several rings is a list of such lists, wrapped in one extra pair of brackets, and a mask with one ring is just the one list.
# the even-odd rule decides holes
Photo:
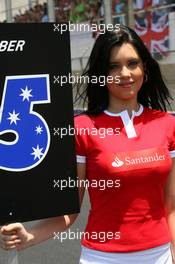
[(143, 83), (144, 66), (132, 44), (112, 48), (108, 75), (114, 80), (107, 83), (110, 96), (119, 100), (137, 98)]

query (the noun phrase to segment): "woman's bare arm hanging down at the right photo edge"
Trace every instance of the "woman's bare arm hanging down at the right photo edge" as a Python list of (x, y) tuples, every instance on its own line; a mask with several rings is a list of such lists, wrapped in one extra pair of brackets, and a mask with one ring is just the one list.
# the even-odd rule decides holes
[(171, 251), (173, 263), (175, 263), (175, 158), (172, 158), (173, 164), (165, 188), (165, 206), (167, 212), (167, 221), (172, 237)]

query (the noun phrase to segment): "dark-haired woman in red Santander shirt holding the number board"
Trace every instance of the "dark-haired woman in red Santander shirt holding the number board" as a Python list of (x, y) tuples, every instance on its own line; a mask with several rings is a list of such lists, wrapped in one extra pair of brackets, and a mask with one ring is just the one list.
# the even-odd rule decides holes
[[(98, 37), (84, 74), (107, 82), (87, 84), (88, 109), (75, 117), (77, 131), (86, 128), (76, 135), (77, 168), (91, 201), (80, 264), (173, 263), (175, 119), (164, 112), (170, 95), (159, 66), (137, 34), (120, 26)], [(29, 231), (4, 226), (2, 247), (39, 243), (76, 217), (46, 219)]]

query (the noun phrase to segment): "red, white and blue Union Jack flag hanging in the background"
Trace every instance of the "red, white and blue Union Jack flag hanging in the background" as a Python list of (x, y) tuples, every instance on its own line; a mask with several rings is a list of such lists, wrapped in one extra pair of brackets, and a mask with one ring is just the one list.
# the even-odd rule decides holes
[(169, 49), (168, 9), (161, 7), (159, 0), (136, 0), (134, 10), (145, 10), (135, 15), (135, 31), (142, 38), (151, 53), (167, 55)]

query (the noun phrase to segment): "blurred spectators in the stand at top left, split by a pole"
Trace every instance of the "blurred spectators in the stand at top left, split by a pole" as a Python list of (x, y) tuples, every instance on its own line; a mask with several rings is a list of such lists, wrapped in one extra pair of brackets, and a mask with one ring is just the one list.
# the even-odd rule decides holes
[[(103, 17), (102, 0), (55, 0), (56, 22), (70, 20), (72, 23), (78, 23), (101, 17)], [(40, 4), (36, 1), (30, 9), (24, 12), (19, 10), (13, 19), (16, 23), (48, 22), (47, 3)]]

